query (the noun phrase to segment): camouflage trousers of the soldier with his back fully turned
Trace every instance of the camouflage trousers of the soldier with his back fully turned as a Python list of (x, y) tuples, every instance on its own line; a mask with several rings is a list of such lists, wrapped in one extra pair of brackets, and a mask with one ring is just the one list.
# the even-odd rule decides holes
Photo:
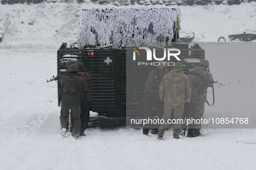
[[(171, 114), (172, 114), (172, 110), (173, 112), (173, 119), (176, 120), (174, 127), (173, 127), (173, 137), (178, 137), (180, 134), (180, 130), (181, 130), (181, 123), (182, 123), (182, 115), (183, 115), (183, 111), (184, 111), (184, 104), (179, 105), (179, 106), (170, 106), (169, 104), (164, 104), (164, 115), (162, 116), (162, 120), (164, 122), (161, 122), (160, 127), (158, 129), (158, 135), (159, 136), (163, 136), (166, 127), (169, 125), (168, 123), (170, 123), (170, 118), (171, 118)], [(169, 122), (168, 122), (169, 120)], [(174, 122), (173, 122), (174, 123)]]

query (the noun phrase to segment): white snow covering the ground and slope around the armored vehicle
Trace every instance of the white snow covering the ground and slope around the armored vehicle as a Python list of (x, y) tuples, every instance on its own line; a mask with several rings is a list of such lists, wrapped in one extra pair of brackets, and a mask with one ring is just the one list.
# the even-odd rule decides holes
[[(56, 83), (46, 79), (56, 75), (56, 50), (62, 42), (76, 41), (80, 7), (0, 5), (0, 30), (5, 31), (0, 43), (1, 170), (255, 169), (253, 123), (246, 129), (204, 126), (204, 137), (180, 140), (172, 138), (172, 129), (158, 141), (156, 135), (147, 137), (142, 130), (125, 127), (89, 128), (79, 140), (59, 135)], [(194, 41), (208, 42), (201, 45), (211, 73), (224, 84), (214, 84), (215, 104), (206, 106), (205, 118), (255, 120), (256, 44), (216, 41), (256, 30), (256, 3), (180, 7), (181, 29), (194, 31)], [(211, 102), (211, 93), (208, 98)]]

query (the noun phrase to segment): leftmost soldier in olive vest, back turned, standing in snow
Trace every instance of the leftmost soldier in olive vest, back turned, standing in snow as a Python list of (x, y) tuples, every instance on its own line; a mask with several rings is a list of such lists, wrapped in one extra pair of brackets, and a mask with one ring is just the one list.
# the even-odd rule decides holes
[(78, 66), (71, 64), (68, 67), (67, 76), (63, 77), (62, 83), (62, 104), (61, 104), (61, 135), (65, 136), (67, 132), (66, 122), (69, 115), (69, 110), (71, 110), (74, 119), (74, 132), (73, 136), (75, 139), (81, 138), (79, 135), (80, 131), (80, 98), (83, 96), (83, 89), (88, 87), (87, 83), (83, 78), (78, 77)]

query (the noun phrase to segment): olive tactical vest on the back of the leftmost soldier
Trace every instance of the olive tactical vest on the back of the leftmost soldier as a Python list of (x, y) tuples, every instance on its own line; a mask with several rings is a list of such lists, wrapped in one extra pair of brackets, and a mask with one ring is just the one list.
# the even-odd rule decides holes
[[(82, 86), (76, 83), (78, 76), (66, 76), (63, 93), (78, 93), (80, 96), (83, 96)], [(79, 87), (79, 91), (76, 90), (75, 86)]]

